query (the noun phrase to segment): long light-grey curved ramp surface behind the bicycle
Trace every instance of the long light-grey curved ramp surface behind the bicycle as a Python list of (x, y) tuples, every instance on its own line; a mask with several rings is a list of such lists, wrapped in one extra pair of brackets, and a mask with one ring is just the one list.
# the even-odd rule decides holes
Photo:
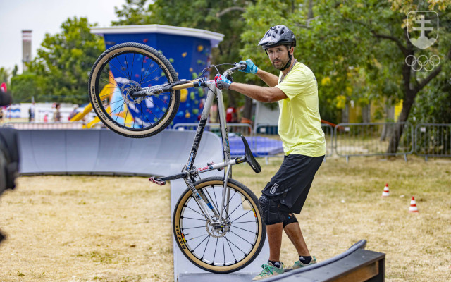
[[(166, 176), (186, 163), (194, 131), (132, 139), (110, 130), (19, 130), (20, 173)], [(196, 164), (222, 158), (221, 140), (202, 137)]]

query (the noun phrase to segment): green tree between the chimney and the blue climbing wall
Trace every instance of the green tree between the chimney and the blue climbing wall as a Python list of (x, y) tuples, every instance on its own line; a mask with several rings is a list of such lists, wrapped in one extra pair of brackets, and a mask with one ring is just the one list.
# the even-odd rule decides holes
[(37, 100), (82, 104), (88, 102), (88, 74), (104, 51), (104, 42), (89, 31), (87, 18), (68, 18), (61, 30), (45, 36), (37, 57), (29, 64), (39, 90)]

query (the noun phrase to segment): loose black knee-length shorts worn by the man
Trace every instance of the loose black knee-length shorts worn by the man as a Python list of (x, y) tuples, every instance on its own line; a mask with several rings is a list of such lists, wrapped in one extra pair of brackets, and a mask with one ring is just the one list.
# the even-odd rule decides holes
[(324, 156), (309, 157), (302, 154), (285, 156), (276, 175), (261, 192), (278, 202), (280, 211), (299, 214), (323, 159)]

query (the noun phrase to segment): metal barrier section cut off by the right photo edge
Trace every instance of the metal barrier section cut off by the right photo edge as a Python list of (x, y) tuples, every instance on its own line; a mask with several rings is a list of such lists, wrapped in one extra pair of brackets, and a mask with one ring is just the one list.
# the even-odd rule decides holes
[(415, 154), (428, 157), (451, 157), (451, 124), (419, 123), (415, 127)]

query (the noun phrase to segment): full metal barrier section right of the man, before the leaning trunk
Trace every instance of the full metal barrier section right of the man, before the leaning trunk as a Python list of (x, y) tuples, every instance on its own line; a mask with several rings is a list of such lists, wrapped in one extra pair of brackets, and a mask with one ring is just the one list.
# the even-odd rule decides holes
[[(414, 152), (413, 126), (409, 123), (339, 123), (335, 126), (335, 153), (353, 156), (395, 156)], [(388, 152), (390, 139), (399, 140), (397, 152)]]

